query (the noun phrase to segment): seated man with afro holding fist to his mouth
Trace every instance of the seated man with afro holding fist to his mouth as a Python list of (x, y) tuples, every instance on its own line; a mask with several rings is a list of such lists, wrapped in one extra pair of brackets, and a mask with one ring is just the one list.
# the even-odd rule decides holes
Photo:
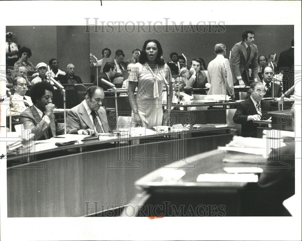
[(48, 82), (34, 84), (31, 87), (33, 105), (21, 114), (24, 128), (35, 133), (36, 141), (64, 134), (64, 125), (57, 123), (53, 114), (53, 92), (53, 86)]

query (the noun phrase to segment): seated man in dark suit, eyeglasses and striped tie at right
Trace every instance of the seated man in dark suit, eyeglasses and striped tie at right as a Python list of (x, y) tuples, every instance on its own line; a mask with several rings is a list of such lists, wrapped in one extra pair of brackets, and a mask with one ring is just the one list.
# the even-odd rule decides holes
[[(257, 123), (254, 120), (262, 120), (264, 113), (271, 111), (271, 104), (262, 100), (266, 94), (265, 87), (262, 82), (255, 81), (250, 87), (251, 96), (240, 102), (233, 117), (236, 124), (241, 124), (241, 135), (243, 137), (257, 137)], [(265, 115), (265, 119), (267, 115)]]

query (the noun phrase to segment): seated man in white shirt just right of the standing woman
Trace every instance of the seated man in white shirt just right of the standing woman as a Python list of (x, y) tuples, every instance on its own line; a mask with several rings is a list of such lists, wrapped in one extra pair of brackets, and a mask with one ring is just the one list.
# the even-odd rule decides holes
[[(185, 79), (182, 77), (177, 77), (174, 82), (173, 82), (173, 96), (172, 96), (172, 103), (177, 104), (178, 102), (178, 88), (179, 88), (179, 102), (180, 103), (192, 103), (194, 98), (191, 95), (186, 94), (184, 91), (185, 87)], [(162, 103), (166, 104), (167, 103), (167, 92), (163, 91), (162, 92)], [(171, 107), (171, 109), (174, 109), (174, 107)], [(188, 111), (195, 110), (196, 107), (188, 107)], [(180, 107), (180, 110), (183, 110), (183, 107)]]

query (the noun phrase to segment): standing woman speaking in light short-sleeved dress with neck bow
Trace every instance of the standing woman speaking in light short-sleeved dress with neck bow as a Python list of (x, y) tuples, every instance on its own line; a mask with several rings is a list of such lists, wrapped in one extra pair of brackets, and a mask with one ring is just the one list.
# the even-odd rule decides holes
[[(147, 40), (144, 43), (139, 62), (133, 66), (129, 75), (128, 98), (133, 112), (133, 120), (139, 126), (148, 129), (162, 125), (162, 90), (165, 82), (170, 85), (170, 96), (173, 95), (170, 84), (171, 71), (161, 56), (160, 43), (157, 40)], [(136, 85), (137, 96), (135, 97)], [(172, 98), (170, 102), (172, 102)]]

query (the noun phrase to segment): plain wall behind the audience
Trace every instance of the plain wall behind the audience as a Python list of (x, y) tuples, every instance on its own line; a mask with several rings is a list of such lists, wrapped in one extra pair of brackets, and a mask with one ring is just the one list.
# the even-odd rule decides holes
[[(165, 26), (156, 26), (160, 31)], [(51, 58), (57, 58), (59, 68), (65, 71), (69, 62), (76, 65), (76, 75), (79, 75), (84, 83), (90, 82), (89, 52), (98, 59), (102, 58), (101, 51), (108, 47), (111, 49), (111, 57), (114, 52), (122, 49), (125, 53), (124, 61), (132, 57), (132, 50), (142, 49), (147, 39), (157, 39), (163, 48), (163, 58), (170, 61), (170, 53), (182, 53), (188, 59), (188, 65), (196, 57), (204, 59), (206, 65), (215, 58), (214, 46), (223, 43), (230, 50), (235, 43), (241, 41), (242, 33), (247, 30), (255, 31), (255, 44), (259, 55), (268, 56), (290, 48), (294, 34), (293, 25), (226, 25), (223, 33), (156, 33), (151, 27), (152, 33), (127, 33), (123, 26), (114, 26), (112, 33), (94, 33), (95, 28), (90, 26), (87, 33), (86, 26), (7, 26), (6, 32), (14, 34), (13, 42), (29, 47), (33, 56), (29, 59), (34, 65), (46, 62)], [(172, 28), (171, 28), (172, 29)], [(170, 30), (171, 30), (170, 29)], [(186, 29), (186, 27), (184, 27)], [(101, 28), (98, 29), (101, 31)], [(130, 26), (128, 32), (132, 30)]]

